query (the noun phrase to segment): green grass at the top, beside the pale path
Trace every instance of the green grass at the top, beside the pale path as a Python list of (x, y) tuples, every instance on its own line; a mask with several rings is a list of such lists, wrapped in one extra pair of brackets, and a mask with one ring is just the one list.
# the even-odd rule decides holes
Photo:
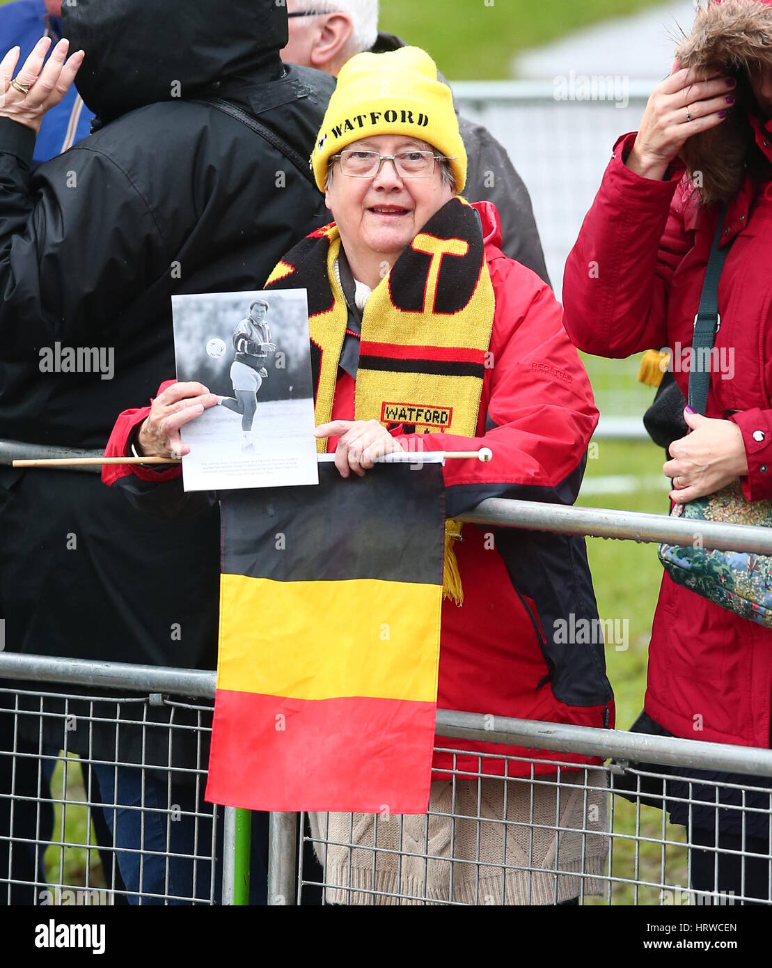
[[(489, 0), (490, 2), (490, 0)], [(381, 0), (380, 26), (425, 47), (449, 80), (502, 80), (513, 57), (611, 16), (662, 0)]]

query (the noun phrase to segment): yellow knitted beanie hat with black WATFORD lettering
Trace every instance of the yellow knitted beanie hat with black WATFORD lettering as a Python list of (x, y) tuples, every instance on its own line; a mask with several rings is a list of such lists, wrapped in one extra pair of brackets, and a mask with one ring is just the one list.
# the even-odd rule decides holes
[(324, 191), (333, 155), (352, 141), (375, 135), (405, 135), (427, 141), (450, 158), (456, 191), (466, 184), (466, 151), (453, 95), (437, 80), (437, 67), (420, 47), (385, 54), (356, 54), (343, 65), (311, 156)]

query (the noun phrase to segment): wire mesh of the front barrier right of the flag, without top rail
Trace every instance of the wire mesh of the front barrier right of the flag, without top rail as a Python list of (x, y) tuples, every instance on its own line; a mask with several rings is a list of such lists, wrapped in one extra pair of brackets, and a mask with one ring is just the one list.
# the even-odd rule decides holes
[[(488, 754), (470, 770), (457, 763), (468, 752), (442, 751), (452, 775), (432, 783), (426, 816), (306, 815), (299, 901), (321, 887), (348, 905), (772, 903), (766, 786), (512, 756), (491, 776)], [(686, 826), (669, 822), (675, 809)], [(720, 810), (736, 836), (719, 833)]]

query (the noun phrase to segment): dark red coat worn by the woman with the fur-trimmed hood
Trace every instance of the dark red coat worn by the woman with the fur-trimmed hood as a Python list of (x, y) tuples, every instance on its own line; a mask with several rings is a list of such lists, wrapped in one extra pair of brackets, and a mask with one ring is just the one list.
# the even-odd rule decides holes
[[(772, 161), (772, 133), (752, 121)], [(623, 357), (692, 345), (694, 319), (716, 229), (675, 163), (662, 181), (624, 165), (635, 134), (620, 138), (587, 213), (563, 279), (564, 324), (576, 345)], [(728, 207), (733, 239), (719, 285), (721, 327), (708, 417), (742, 431), (748, 499), (772, 498), (772, 183), (746, 179)], [(680, 348), (679, 345), (680, 344)], [(686, 393), (688, 372), (675, 367)], [(638, 554), (654, 554), (641, 550)], [(739, 618), (663, 577), (649, 647), (645, 711), (676, 736), (770, 744), (772, 630)]]

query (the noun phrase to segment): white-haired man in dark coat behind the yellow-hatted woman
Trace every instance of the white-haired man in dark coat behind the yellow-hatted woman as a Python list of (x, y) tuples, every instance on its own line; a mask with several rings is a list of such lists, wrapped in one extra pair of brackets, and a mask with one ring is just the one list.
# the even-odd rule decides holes
[[(354, 54), (383, 53), (405, 46), (392, 34), (378, 32), (378, 0), (286, 0), (289, 42), (286, 64), (303, 64), (334, 76)], [(483, 125), (459, 117), (468, 156), (464, 197), (492, 201), (501, 219), (504, 255), (517, 259), (549, 283), (542, 243), (528, 191), (506, 149)]]

